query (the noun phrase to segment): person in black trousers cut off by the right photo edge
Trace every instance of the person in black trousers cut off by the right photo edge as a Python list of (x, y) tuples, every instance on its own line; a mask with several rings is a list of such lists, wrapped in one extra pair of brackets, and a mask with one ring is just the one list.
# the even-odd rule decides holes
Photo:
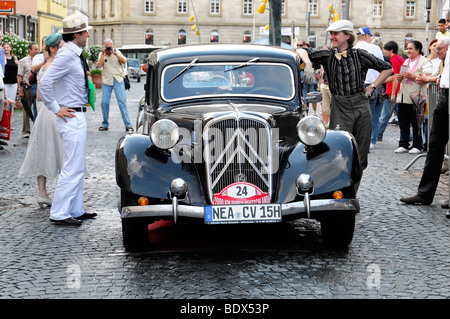
[[(450, 25), (450, 10), (447, 12), (446, 26)], [(450, 78), (450, 54), (447, 53), (444, 62), (444, 71), (439, 83), (439, 98), (434, 109), (431, 123), (430, 140), (428, 144), (427, 158), (422, 173), (422, 178), (416, 195), (400, 198), (405, 204), (430, 205), (433, 202), (436, 188), (441, 176), (441, 167), (445, 154), (445, 146), (448, 142), (449, 113), (448, 93)], [(442, 204), (443, 208), (449, 208), (448, 202)], [(450, 218), (450, 213), (447, 213)]]

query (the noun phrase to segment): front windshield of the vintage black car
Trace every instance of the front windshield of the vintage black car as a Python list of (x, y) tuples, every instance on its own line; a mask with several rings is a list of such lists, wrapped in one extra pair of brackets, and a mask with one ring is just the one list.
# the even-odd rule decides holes
[(164, 69), (161, 92), (165, 101), (220, 95), (289, 101), (295, 96), (294, 75), (285, 64), (197, 62), (189, 65), (176, 64)]

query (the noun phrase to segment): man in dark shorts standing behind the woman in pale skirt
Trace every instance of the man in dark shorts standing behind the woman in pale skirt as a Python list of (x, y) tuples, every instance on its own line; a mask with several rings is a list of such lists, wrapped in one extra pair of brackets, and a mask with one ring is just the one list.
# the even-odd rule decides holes
[[(36, 114), (36, 90), (37, 84), (29, 82), (29, 76), (31, 74), (31, 63), (33, 57), (39, 53), (39, 46), (36, 42), (31, 42), (28, 45), (28, 55), (19, 61), (19, 69), (17, 71), (17, 83), (19, 83), (19, 96), (22, 98), (22, 105), (28, 105), (30, 113), (32, 113), (32, 107), (34, 107)], [(34, 121), (33, 117), (33, 121)], [(30, 116), (27, 112), (23, 112), (23, 126), (22, 136), (25, 138), (30, 137)]]

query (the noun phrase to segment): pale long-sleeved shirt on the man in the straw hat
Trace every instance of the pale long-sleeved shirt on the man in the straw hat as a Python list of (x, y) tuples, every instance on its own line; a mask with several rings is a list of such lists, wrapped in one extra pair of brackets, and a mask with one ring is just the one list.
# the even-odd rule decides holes
[(53, 113), (59, 111), (60, 105), (83, 107), (88, 104), (81, 52), (79, 46), (67, 42), (58, 50), (39, 83), (42, 101)]

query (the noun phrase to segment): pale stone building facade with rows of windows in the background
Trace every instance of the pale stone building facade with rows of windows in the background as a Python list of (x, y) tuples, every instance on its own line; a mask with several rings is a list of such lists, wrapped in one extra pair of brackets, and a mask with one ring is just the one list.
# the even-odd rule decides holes
[[(351, 0), (349, 17), (359, 28), (367, 26), (383, 42), (400, 47), (416, 39), (433, 39), (445, 1), (431, 0), (429, 23), (425, 23), (427, 0)], [(91, 44), (113, 39), (116, 46), (156, 46), (223, 42), (252, 42), (268, 36), (269, 6), (257, 13), (261, 0), (89, 0)], [(344, 17), (346, 0), (282, 0), (283, 41), (305, 39), (313, 46), (327, 43), (330, 5)], [(448, 6), (448, 5), (447, 5)], [(309, 13), (308, 13), (309, 12)], [(194, 20), (191, 21), (191, 17)], [(194, 24), (196, 30), (192, 30)], [(294, 36), (292, 28), (294, 26)]]

